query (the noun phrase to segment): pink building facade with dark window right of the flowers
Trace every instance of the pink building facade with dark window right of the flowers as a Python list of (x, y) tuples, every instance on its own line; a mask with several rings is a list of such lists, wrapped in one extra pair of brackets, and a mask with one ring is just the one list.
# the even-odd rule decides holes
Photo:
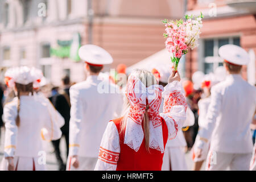
[(251, 62), (243, 67), (242, 76), (255, 84), (256, 1), (188, 0), (186, 14), (205, 16), (200, 46), (186, 56), (186, 74), (199, 70), (214, 71), (222, 60), (218, 48), (235, 44), (250, 52)]

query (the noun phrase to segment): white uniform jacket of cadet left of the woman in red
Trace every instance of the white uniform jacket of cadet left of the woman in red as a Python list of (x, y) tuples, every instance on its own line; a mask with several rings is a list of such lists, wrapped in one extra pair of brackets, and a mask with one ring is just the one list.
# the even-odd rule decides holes
[(108, 122), (119, 117), (122, 111), (118, 89), (97, 76), (89, 76), (86, 81), (71, 86), (69, 155), (97, 158)]

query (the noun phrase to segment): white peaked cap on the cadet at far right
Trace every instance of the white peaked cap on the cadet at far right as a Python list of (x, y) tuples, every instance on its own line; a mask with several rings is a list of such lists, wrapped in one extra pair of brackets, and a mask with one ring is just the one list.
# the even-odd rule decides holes
[(218, 54), (222, 59), (237, 65), (246, 65), (250, 61), (249, 54), (245, 49), (233, 44), (221, 46), (218, 49)]

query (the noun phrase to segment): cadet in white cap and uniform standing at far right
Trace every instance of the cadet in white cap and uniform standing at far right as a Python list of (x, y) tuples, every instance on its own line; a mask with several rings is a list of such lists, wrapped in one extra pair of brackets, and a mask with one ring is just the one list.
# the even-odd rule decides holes
[(199, 131), (196, 157), (200, 158), (202, 148), (212, 136), (207, 170), (249, 170), (253, 151), (250, 123), (255, 113), (256, 88), (241, 77), (242, 65), (249, 62), (249, 55), (230, 44), (220, 47), (218, 52), (228, 76), (211, 89), (207, 125)]

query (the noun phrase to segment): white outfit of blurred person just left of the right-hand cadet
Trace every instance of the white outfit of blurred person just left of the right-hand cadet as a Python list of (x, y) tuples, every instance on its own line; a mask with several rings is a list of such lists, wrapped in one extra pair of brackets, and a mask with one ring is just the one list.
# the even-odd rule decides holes
[[(207, 111), (210, 105), (210, 97), (203, 98), (199, 100), (198, 102), (198, 107), (199, 107), (199, 118), (198, 118), (198, 125), (199, 125), (199, 130), (201, 130), (203, 127), (207, 125), (206, 117), (207, 117)], [(199, 142), (199, 135), (196, 136), (195, 144), (194, 146), (197, 146), (197, 142)], [(192, 147), (191, 154), (192, 154), (192, 159), (193, 162), (199, 162), (202, 160), (207, 159), (207, 154), (209, 151), (210, 147), (210, 142), (208, 141), (207, 144), (204, 145), (204, 148), (202, 148), (202, 154), (200, 158), (196, 158), (195, 156), (195, 150), (194, 147)]]

